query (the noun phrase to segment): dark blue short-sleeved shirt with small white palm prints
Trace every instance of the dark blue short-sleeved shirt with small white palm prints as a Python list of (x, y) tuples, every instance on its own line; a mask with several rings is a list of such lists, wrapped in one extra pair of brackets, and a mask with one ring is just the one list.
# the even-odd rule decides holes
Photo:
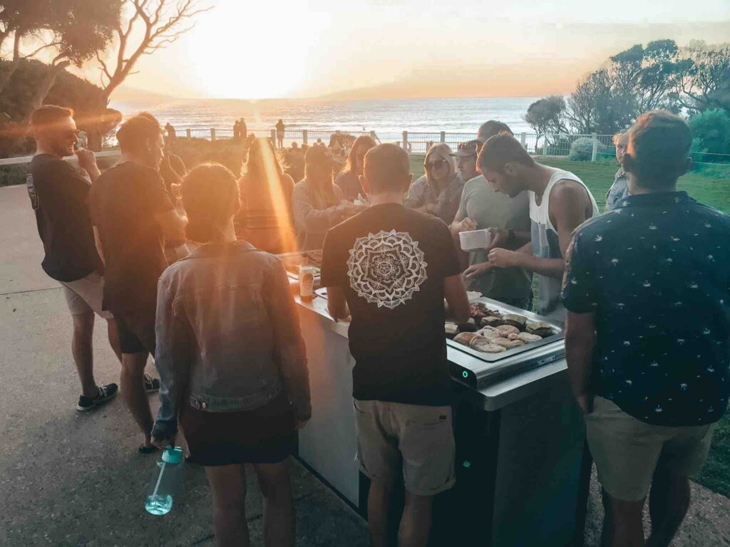
[(730, 390), (730, 217), (631, 195), (575, 232), (566, 309), (595, 312), (591, 389), (649, 424), (710, 424)]

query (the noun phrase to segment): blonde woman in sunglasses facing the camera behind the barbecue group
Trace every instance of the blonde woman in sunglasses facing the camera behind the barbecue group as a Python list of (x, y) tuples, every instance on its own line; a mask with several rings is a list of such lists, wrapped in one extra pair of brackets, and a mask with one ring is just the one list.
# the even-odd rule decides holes
[(404, 205), (433, 214), (449, 225), (454, 220), (464, 188), (449, 145), (442, 142), (434, 144), (426, 152), (423, 166), (426, 174), (411, 185)]

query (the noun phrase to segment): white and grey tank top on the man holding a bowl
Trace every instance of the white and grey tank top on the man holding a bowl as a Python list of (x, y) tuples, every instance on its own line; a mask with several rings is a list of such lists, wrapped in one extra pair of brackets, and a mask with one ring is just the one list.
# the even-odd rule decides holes
[[(562, 258), (560, 250), (560, 242), (558, 241), (558, 230), (550, 222), (550, 193), (559, 180), (574, 180), (585, 188), (588, 197), (591, 198), (591, 206), (593, 213), (591, 217), (599, 214), (596, 200), (591, 194), (591, 190), (585, 186), (575, 174), (569, 171), (556, 171), (548, 181), (545, 192), (542, 193), (542, 201), (537, 204), (535, 193), (530, 192), (530, 225), (532, 238), (532, 254), (541, 258)], [(560, 300), (560, 292), (562, 288), (562, 279), (537, 275), (537, 286), (539, 302), (537, 303), (537, 313), (546, 317), (565, 320), (565, 309)]]

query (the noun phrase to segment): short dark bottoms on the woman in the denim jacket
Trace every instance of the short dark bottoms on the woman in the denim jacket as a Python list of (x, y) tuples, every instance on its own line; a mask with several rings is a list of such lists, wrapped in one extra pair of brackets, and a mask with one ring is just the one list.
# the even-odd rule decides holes
[(180, 413), (191, 461), (208, 467), (279, 463), (296, 451), (294, 413), (284, 393), (241, 412), (208, 412), (185, 405)]

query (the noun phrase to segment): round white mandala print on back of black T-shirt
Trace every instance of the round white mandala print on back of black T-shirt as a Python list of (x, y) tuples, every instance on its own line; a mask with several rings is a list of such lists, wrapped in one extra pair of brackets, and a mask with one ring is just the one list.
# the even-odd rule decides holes
[(413, 298), (428, 276), (423, 251), (407, 232), (357, 238), (347, 260), (350, 287), (369, 303), (394, 309)]

